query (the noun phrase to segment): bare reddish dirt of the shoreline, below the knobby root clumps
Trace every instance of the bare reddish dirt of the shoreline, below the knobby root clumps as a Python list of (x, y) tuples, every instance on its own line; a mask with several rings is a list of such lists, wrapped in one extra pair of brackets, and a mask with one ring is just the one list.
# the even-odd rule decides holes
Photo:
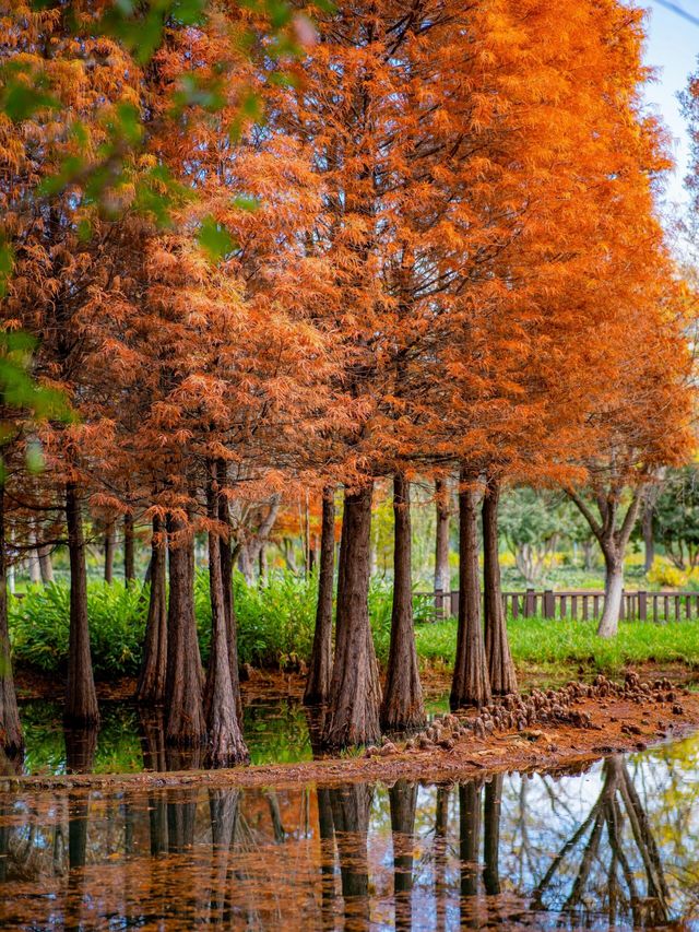
[[(608, 681), (607, 681), (608, 682)], [(391, 783), (400, 777), (455, 782), (501, 771), (584, 767), (608, 754), (644, 750), (699, 730), (699, 694), (684, 688), (638, 684), (606, 695), (573, 695), (568, 708), (574, 722), (534, 723), (477, 736), (473, 731), (428, 748), (399, 744), (367, 756), (321, 758), (298, 764), (253, 765), (222, 770), (140, 774), (0, 776), (0, 792), (32, 790), (151, 790), (178, 786), (276, 787), (299, 783), (336, 786), (359, 781)], [(643, 693), (642, 689), (647, 692)], [(583, 689), (579, 692), (584, 692)], [(604, 693), (604, 689), (602, 691)], [(475, 711), (461, 721), (472, 723)], [(449, 746), (452, 745), (453, 746)]]

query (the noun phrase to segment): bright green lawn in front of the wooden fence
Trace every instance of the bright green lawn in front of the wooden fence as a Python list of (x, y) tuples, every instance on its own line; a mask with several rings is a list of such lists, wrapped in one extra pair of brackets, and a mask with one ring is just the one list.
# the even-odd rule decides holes
[[(594, 622), (517, 618), (508, 623), (514, 662), (519, 666), (577, 668), (618, 675), (627, 664), (683, 663), (699, 669), (699, 622), (629, 622), (618, 637), (603, 640)], [(453, 618), (417, 629), (417, 650), (427, 662), (452, 664), (457, 647)], [(574, 669), (573, 669), (574, 668)]]

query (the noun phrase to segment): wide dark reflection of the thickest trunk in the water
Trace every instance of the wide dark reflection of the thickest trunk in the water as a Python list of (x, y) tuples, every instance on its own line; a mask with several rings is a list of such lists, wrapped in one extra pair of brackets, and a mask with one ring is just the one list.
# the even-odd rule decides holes
[(342, 874), (345, 921), (352, 929), (369, 928), (369, 864), (367, 834), (371, 787), (356, 783), (329, 790)]

